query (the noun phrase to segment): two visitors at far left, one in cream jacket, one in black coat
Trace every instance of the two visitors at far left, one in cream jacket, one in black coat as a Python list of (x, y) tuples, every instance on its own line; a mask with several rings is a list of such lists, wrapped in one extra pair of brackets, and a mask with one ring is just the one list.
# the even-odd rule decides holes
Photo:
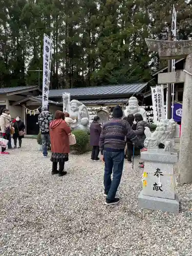
[[(25, 134), (25, 124), (20, 120), (19, 116), (16, 116), (15, 119), (11, 119), (10, 111), (8, 109), (3, 109), (0, 113), (0, 135), (3, 139), (8, 141), (8, 149), (12, 148), (11, 144), (11, 135), (13, 136), (14, 148), (17, 147), (18, 139), (18, 148), (22, 146), (22, 138)], [(2, 147), (0, 152), (1, 154), (9, 154), (6, 151), (6, 147)]]

